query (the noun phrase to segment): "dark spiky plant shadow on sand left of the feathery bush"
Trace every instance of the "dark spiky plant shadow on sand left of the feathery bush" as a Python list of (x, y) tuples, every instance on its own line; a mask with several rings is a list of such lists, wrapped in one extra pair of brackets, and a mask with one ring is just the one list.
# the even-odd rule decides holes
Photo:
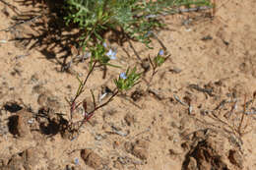
[[(67, 59), (72, 56), (72, 46), (78, 47), (81, 31), (67, 27), (63, 20), (63, 0), (17, 0), (21, 7), (28, 10), (14, 17), (14, 25), (8, 31), (15, 32), (13, 41), (24, 44), (25, 48), (36, 49), (45, 59), (61, 66), (61, 71), (67, 67)], [(26, 9), (25, 8), (25, 9)], [(27, 26), (32, 31), (19, 30)], [(22, 33), (17, 33), (22, 31)]]

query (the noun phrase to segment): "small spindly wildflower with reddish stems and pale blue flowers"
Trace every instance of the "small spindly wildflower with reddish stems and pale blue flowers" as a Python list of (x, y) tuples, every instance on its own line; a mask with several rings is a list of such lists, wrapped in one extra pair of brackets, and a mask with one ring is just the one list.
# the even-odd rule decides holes
[[(104, 44), (104, 47), (107, 47), (105, 44)], [(108, 62), (108, 59), (105, 59), (102, 58), (102, 57), (106, 57), (106, 56), (110, 56), (110, 58), (114, 58), (115, 57), (115, 52), (113, 50), (109, 50), (107, 53), (108, 54), (104, 54), (104, 55), (99, 55), (97, 56), (97, 52), (100, 53), (101, 52), (104, 52), (104, 49), (100, 49), (100, 50), (96, 50), (96, 53), (93, 52), (92, 56), (91, 56), (91, 68), (90, 68), (90, 71), (86, 77), (86, 79), (84, 80), (84, 82), (82, 80), (79, 79), (79, 77), (77, 77), (80, 85), (77, 89), (77, 92), (76, 92), (76, 95), (75, 97), (69, 101), (68, 99), (67, 102), (70, 104), (70, 117), (71, 117), (71, 120), (70, 120), (70, 127), (74, 127), (73, 125), (79, 123), (79, 126), (77, 128), (76, 131), (78, 131), (87, 121), (89, 121), (92, 116), (96, 113), (96, 110), (98, 110), (99, 108), (107, 105), (110, 101), (112, 101), (112, 99), (119, 93), (119, 92), (123, 92), (125, 90), (129, 90), (131, 89), (134, 85), (137, 85), (140, 83), (140, 78), (142, 76), (142, 73), (138, 73), (137, 72), (137, 68), (134, 67), (133, 69), (130, 69), (128, 68), (126, 70), (126, 72), (123, 72), (119, 75), (118, 79), (115, 79), (113, 82), (115, 84), (115, 88), (111, 91), (111, 96), (108, 97), (108, 99), (102, 103), (102, 104), (99, 104), (99, 105), (96, 105), (96, 98), (95, 98), (95, 94), (94, 92), (91, 90), (91, 94), (92, 94), (92, 97), (93, 97), (93, 101), (94, 101), (94, 109), (91, 110), (91, 111), (88, 111), (88, 101), (87, 100), (83, 100), (81, 102), (78, 102), (78, 97), (85, 91), (85, 86), (89, 80), (89, 77), (92, 75), (95, 67), (96, 67), (96, 63), (100, 63), (100, 64), (106, 64)], [(105, 56), (106, 55), (106, 56)], [(95, 56), (95, 57), (93, 57)], [(101, 56), (101, 57), (100, 57)], [(168, 56), (167, 56), (168, 57)], [(159, 68), (163, 62), (167, 59), (167, 57), (164, 57), (164, 51), (163, 50), (160, 50), (160, 52), (155, 56), (154, 60), (152, 61), (151, 58), (149, 57), (150, 59), (150, 62), (151, 62), (151, 65), (153, 67), (153, 74), (152, 74), (152, 77), (151, 77), (151, 81), (154, 77), (154, 75), (157, 73), (157, 68)], [(103, 63), (105, 62), (105, 63)], [(74, 112), (76, 111), (76, 109), (82, 104), (83, 108), (84, 108), (84, 118), (83, 120), (80, 120), (78, 122), (73, 122), (72, 121), (72, 117), (73, 117), (73, 114)]]

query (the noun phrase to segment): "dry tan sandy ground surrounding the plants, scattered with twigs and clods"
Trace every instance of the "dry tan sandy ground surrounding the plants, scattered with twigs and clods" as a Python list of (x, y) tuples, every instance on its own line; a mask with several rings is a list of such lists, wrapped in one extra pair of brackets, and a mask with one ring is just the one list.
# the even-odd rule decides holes
[[(150, 89), (152, 70), (96, 111), (72, 141), (61, 133), (69, 118), (65, 97), (74, 96), (74, 73), (84, 78), (88, 61), (61, 72), (75, 37), (52, 16), (9, 28), (19, 22), (15, 12), (24, 14), (17, 20), (39, 14), (32, 2), (0, 1), (0, 169), (256, 169), (255, 0), (219, 2), (214, 20), (202, 13), (166, 17), (168, 29), (158, 36), (171, 57)], [(143, 59), (160, 50), (157, 40), (154, 50), (133, 46)], [(113, 89), (111, 80), (128, 66), (142, 70), (128, 43), (117, 50), (113, 63), (123, 69), (108, 68), (102, 79), (96, 68), (79, 100), (89, 101), (89, 89), (96, 98), (102, 86)]]

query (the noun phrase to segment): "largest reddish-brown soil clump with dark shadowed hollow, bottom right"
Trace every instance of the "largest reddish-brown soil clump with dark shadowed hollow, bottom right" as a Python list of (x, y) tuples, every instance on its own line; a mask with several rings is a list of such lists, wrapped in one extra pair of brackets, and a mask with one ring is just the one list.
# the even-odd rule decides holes
[[(198, 136), (198, 134), (201, 134)], [(227, 139), (217, 132), (194, 134), (193, 142), (183, 162), (183, 170), (242, 169), (243, 159), (238, 150), (229, 149)], [(234, 165), (234, 166), (232, 166)]]

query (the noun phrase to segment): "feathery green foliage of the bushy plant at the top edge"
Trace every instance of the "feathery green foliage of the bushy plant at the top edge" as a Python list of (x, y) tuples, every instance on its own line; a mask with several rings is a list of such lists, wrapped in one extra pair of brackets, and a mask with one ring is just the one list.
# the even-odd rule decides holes
[(193, 4), (209, 6), (210, 0), (67, 0), (65, 20), (67, 25), (74, 23), (83, 30), (84, 47), (102, 43), (102, 33), (109, 29), (121, 29), (127, 37), (149, 45), (148, 32), (163, 26), (157, 15)]

